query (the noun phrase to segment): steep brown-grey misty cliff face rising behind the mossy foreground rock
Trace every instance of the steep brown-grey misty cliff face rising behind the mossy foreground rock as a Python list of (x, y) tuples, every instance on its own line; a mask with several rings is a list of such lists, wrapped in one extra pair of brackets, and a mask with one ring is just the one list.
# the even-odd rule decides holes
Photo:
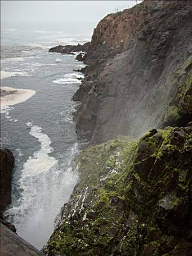
[(100, 143), (191, 120), (191, 15), (191, 1), (144, 1), (99, 22), (74, 95), (79, 137)]

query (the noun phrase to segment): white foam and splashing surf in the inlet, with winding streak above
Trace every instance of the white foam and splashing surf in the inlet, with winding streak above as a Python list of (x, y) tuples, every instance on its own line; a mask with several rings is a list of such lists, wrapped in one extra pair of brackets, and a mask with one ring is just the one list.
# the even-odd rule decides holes
[(13, 204), (5, 216), (15, 223), (21, 237), (42, 248), (53, 231), (56, 214), (76, 185), (78, 175), (72, 172), (70, 164), (78, 150), (76, 143), (68, 154), (67, 163), (58, 163), (49, 156), (52, 147), (47, 134), (37, 125), (30, 122), (27, 125), (41, 147), (24, 163), (18, 182), (21, 189), (19, 207)]

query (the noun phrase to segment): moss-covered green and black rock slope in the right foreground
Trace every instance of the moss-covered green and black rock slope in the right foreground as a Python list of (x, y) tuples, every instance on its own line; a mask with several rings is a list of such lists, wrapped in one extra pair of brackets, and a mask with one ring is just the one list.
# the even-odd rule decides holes
[(191, 255), (191, 141), (167, 127), (86, 148), (46, 255)]

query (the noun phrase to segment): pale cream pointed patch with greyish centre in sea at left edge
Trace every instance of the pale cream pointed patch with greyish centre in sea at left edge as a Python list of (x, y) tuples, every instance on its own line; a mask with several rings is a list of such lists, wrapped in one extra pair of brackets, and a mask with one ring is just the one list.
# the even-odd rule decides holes
[(5, 106), (13, 106), (24, 102), (36, 93), (35, 90), (17, 89), (5, 86), (2, 86), (1, 90), (1, 109)]

